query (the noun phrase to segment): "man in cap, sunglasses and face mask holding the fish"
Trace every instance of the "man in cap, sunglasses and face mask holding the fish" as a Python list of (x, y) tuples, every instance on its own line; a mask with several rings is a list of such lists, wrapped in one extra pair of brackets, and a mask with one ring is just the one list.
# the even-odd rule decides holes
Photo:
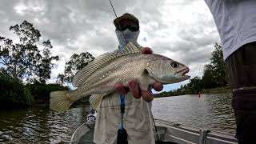
[[(119, 42), (118, 50), (114, 51), (114, 53), (122, 51), (127, 42), (132, 42), (135, 46), (139, 46), (137, 42), (139, 22), (134, 15), (123, 14), (114, 20), (114, 26), (116, 27), (115, 32)], [(152, 50), (150, 48), (142, 48), (142, 53), (152, 54)], [(135, 79), (130, 80), (128, 86), (118, 83), (115, 87), (118, 92), (103, 98), (101, 106), (99, 106), (99, 116), (94, 127), (94, 142), (97, 144), (117, 142), (117, 131), (121, 115), (119, 95), (126, 94), (124, 127), (129, 135), (128, 142), (154, 143), (154, 123), (152, 122), (153, 115), (150, 103), (154, 98), (153, 94), (148, 89), (140, 90)], [(162, 83), (155, 82), (154, 89), (162, 90)]]

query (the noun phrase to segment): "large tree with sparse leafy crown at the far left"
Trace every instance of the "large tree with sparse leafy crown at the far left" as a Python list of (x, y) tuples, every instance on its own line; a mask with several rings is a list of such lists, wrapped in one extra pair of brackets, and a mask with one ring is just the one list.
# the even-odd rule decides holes
[(46, 82), (50, 78), (53, 60), (58, 56), (50, 56), (50, 40), (42, 42), (43, 50), (39, 50), (37, 42), (41, 34), (30, 22), (10, 26), (10, 30), (18, 36), (18, 43), (10, 38), (0, 37), (0, 64), (1, 71), (14, 78), (26, 78), (28, 81)]

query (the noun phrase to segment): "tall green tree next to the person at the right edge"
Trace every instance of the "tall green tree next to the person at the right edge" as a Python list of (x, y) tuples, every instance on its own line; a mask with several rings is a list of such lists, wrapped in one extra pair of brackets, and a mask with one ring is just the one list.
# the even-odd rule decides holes
[(218, 84), (218, 86), (225, 86), (227, 84), (226, 81), (226, 70), (225, 70), (225, 62), (223, 60), (222, 46), (215, 43), (215, 50), (211, 54), (210, 64), (212, 67), (212, 74), (214, 77), (214, 82)]

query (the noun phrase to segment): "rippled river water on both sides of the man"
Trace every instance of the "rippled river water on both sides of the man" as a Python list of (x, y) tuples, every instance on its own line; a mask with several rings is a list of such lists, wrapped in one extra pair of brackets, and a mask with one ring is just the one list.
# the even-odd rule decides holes
[[(155, 98), (154, 118), (234, 133), (231, 94), (182, 95)], [(37, 106), (0, 111), (0, 143), (68, 143), (74, 130), (86, 122), (89, 106), (78, 105), (65, 113)]]

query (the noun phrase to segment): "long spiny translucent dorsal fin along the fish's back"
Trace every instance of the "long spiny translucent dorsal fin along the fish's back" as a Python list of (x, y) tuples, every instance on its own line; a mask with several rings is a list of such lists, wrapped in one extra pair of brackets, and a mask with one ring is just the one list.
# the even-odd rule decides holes
[(135, 53), (141, 53), (140, 48), (138, 48), (138, 46), (135, 46), (132, 42), (129, 42), (123, 50), (118, 51), (118, 54), (105, 53), (98, 56), (98, 58), (95, 58), (94, 61), (90, 62), (87, 66), (82, 68), (82, 70), (78, 71), (78, 73), (74, 75), (72, 81), (73, 86), (80, 86), (82, 82), (86, 80), (86, 78), (90, 77), (90, 74), (98, 70), (98, 68), (104, 65), (106, 62), (110, 62), (114, 58)]

